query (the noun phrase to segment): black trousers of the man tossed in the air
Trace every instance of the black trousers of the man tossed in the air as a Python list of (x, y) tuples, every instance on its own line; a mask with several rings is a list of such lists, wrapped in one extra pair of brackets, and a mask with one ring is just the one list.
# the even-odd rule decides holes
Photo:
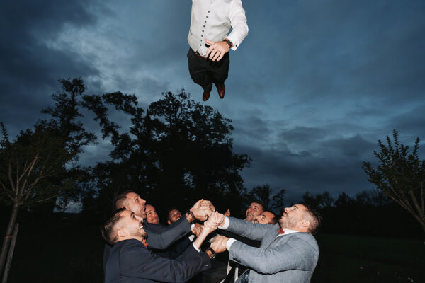
[(220, 61), (203, 59), (193, 54), (191, 48), (188, 52), (189, 73), (194, 83), (202, 86), (204, 91), (211, 91), (212, 83), (225, 83), (229, 74), (229, 52)]

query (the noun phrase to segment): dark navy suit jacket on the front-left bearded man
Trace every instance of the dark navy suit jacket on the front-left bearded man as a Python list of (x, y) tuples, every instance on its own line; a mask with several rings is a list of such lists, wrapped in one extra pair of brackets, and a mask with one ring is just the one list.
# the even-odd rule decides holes
[(186, 282), (211, 266), (210, 257), (193, 246), (177, 260), (161, 258), (136, 239), (115, 243), (106, 262), (106, 283)]

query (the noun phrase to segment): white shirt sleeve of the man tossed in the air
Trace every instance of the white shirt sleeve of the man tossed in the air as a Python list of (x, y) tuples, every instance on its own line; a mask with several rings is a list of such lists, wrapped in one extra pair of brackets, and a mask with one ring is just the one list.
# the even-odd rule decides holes
[(248, 25), (246, 24), (245, 10), (242, 7), (242, 1), (234, 0), (229, 13), (232, 32), (227, 35), (227, 39), (233, 43), (232, 50), (237, 50), (242, 40), (248, 35)]

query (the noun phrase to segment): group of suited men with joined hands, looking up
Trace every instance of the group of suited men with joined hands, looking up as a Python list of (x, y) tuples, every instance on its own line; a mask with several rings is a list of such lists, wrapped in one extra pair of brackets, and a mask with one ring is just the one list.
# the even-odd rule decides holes
[[(303, 204), (286, 207), (278, 219), (253, 202), (246, 219), (215, 212), (208, 200), (199, 200), (186, 214), (171, 210), (169, 225), (157, 224), (154, 207), (146, 205), (135, 192), (123, 192), (114, 202), (118, 209), (103, 226), (105, 282), (187, 282), (211, 267), (217, 253), (229, 252), (229, 260), (248, 268), (246, 282), (310, 282), (319, 257), (312, 234), (320, 216)], [(148, 216), (149, 214), (149, 216)], [(229, 212), (226, 212), (228, 215)], [(150, 221), (150, 223), (149, 223)], [(197, 221), (198, 224), (191, 223)], [(203, 222), (202, 224), (199, 224)], [(274, 224), (273, 224), (274, 222)], [(210, 247), (201, 246), (215, 231)], [(236, 238), (220, 235), (227, 231), (259, 241), (249, 246)], [(160, 256), (152, 250), (166, 250), (193, 233), (193, 241), (176, 258)], [(243, 282), (243, 281), (241, 281)]]

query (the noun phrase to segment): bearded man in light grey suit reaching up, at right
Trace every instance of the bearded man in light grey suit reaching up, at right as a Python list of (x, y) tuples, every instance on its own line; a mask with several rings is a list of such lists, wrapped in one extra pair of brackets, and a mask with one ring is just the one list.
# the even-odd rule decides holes
[(229, 250), (229, 258), (249, 267), (249, 282), (310, 282), (319, 258), (319, 246), (312, 236), (321, 218), (303, 204), (286, 207), (278, 224), (252, 224), (220, 215), (219, 228), (261, 241), (254, 248), (233, 238), (220, 236), (212, 249)]

